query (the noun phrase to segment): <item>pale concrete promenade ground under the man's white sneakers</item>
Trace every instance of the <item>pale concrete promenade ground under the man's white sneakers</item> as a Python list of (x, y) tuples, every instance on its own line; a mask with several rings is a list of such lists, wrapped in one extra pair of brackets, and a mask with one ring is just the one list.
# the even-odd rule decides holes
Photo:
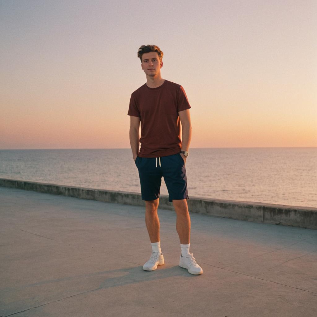
[(0, 187), (0, 316), (317, 316), (317, 230), (190, 216), (204, 274), (178, 266), (163, 209), (147, 272), (144, 207)]

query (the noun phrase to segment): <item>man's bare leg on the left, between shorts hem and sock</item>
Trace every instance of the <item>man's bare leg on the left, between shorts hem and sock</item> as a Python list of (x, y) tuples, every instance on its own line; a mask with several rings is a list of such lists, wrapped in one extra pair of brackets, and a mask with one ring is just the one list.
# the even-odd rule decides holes
[(145, 201), (145, 223), (151, 243), (159, 242), (159, 198)]

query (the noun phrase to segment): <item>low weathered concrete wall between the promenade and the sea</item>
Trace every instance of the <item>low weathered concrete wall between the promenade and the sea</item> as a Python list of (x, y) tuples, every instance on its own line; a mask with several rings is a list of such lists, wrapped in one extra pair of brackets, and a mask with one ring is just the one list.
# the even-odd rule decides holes
[[(93, 199), (107, 203), (145, 206), (145, 201), (141, 200), (141, 194), (127, 191), (108, 191), (6, 178), (0, 178), (0, 186), (82, 199)], [(189, 211), (193, 213), (259, 223), (317, 229), (317, 208), (313, 207), (262, 204), (234, 200), (207, 199), (203, 197), (190, 197), (190, 199), (187, 200), (187, 204)], [(173, 204), (168, 201), (168, 196), (166, 195), (160, 196), (159, 208), (174, 210)]]

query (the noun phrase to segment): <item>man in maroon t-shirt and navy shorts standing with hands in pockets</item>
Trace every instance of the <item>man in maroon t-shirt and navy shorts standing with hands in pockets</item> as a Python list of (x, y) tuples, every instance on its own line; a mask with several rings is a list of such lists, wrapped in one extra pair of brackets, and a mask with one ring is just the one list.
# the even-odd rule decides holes
[[(202, 274), (189, 253), (191, 220), (188, 213), (185, 163), (191, 140), (191, 120), (184, 88), (161, 77), (163, 52), (156, 45), (142, 45), (138, 51), (146, 83), (131, 94), (130, 144), (139, 171), (141, 197), (146, 202), (145, 222), (152, 255), (143, 269), (153, 271), (164, 264), (160, 246), (159, 193), (162, 177), (176, 211), (176, 230), (181, 245), (179, 266), (191, 274)], [(180, 139), (180, 122), (182, 141)], [(139, 126), (141, 122), (141, 138)], [(139, 142), (141, 148), (139, 151)]]

